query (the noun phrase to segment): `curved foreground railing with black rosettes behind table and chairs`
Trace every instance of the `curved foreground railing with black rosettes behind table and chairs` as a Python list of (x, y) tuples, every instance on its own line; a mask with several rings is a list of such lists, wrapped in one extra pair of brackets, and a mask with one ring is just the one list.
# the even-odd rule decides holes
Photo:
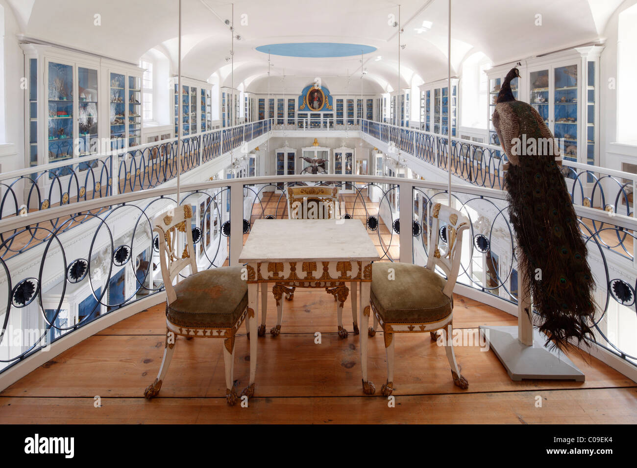
[[(191, 229), (201, 269), (236, 264), (244, 234), (249, 235), (255, 219), (287, 217), (285, 199), (276, 192), (280, 183), (340, 187), (341, 216), (359, 218), (373, 239), (385, 239), (376, 243), (383, 260), (416, 264), (425, 264), (429, 255), (431, 208), (439, 201), (446, 204), (448, 197), (447, 186), (433, 181), (297, 175), (183, 185), (179, 201), (175, 188), (161, 187), (4, 218), (0, 220), (2, 248), (20, 236), (45, 242), (20, 257), (0, 259), (3, 372), (49, 344), (72, 343), (63, 340), (89, 324), (99, 329), (99, 323), (106, 323), (105, 318), (118, 310), (139, 310), (142, 306), (137, 302), (164, 299), (159, 252), (152, 233), (154, 216), (171, 206), (192, 204), (196, 218)], [(504, 199), (501, 190), (452, 186), (454, 206), (471, 220), (471, 230), (463, 241), (456, 292), (513, 309), (517, 262), (512, 228), (502, 208)], [(609, 252), (599, 241), (601, 231), (590, 226), (603, 222), (604, 230), (634, 238), (637, 221), (616, 215), (610, 224), (604, 211), (575, 208), (587, 237), (588, 259), (597, 285), (599, 346), (633, 365), (637, 359), (635, 271), (618, 273), (609, 268)], [(80, 221), (84, 225), (77, 233), (66, 229)], [(433, 234), (446, 241), (444, 229)]]

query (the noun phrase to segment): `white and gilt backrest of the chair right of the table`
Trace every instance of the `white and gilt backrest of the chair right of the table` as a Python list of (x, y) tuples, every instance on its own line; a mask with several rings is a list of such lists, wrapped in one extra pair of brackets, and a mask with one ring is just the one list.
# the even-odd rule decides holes
[[(462, 234), (469, 229), (469, 218), (460, 211), (446, 205), (436, 203), (433, 206), (433, 227), (429, 236), (429, 259), (427, 269), (436, 271), (440, 267), (447, 275), (447, 285), (443, 294), (452, 297), (455, 281), (458, 279), (462, 253)], [(445, 237), (447, 238), (447, 250), (440, 252), (440, 228), (445, 225)]]

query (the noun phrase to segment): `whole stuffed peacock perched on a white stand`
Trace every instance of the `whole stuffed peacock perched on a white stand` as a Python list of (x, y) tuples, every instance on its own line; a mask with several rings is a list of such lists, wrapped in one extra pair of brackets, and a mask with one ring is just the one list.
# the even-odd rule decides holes
[[(569, 339), (594, 339), (594, 282), (561, 161), (555, 160), (559, 149), (553, 135), (533, 106), (513, 97), (511, 80), (519, 76), (517, 68), (506, 75), (492, 121), (509, 159), (509, 217), (518, 267), (528, 278), (527, 290), (520, 291), (530, 294), (547, 345), (552, 341), (551, 347), (563, 350)], [(550, 143), (541, 144), (546, 139)], [(519, 141), (534, 141), (536, 146), (527, 150)]]

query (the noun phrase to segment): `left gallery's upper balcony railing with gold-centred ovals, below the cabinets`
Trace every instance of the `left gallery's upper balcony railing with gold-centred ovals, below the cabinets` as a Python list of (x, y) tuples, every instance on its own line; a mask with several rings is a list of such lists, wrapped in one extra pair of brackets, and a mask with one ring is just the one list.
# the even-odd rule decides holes
[[(174, 180), (220, 155), (236, 150), (271, 129), (271, 120), (261, 120), (187, 136), (182, 139), (181, 158), (177, 158), (177, 139), (129, 146), (106, 153), (74, 157), (0, 175), (0, 220), (25, 216), (32, 211), (50, 209), (80, 201), (148, 190)], [(180, 163), (178, 163), (180, 161)], [(106, 208), (99, 208), (106, 209)], [(95, 215), (100, 211), (91, 211)], [(70, 229), (89, 218), (55, 218), (48, 227)], [(39, 227), (39, 226), (38, 226)], [(11, 242), (0, 241), (0, 257), (8, 259), (45, 241), (32, 232)]]

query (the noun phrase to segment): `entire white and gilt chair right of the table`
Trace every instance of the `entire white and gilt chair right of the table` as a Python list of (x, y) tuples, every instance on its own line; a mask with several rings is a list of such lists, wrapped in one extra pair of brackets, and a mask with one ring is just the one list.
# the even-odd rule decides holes
[[(394, 334), (443, 331), (443, 341), (455, 385), (468, 388), (455, 360), (452, 343), (454, 318), (454, 285), (460, 269), (462, 234), (469, 228), (469, 219), (457, 209), (440, 203), (433, 207), (435, 220), (429, 242), (427, 266), (397, 262), (375, 262), (372, 266), (371, 309), (374, 325), (380, 323), (387, 352), (387, 382), (381, 392), (389, 396), (394, 391)], [(440, 250), (440, 228), (446, 225), (445, 252)], [(447, 275), (445, 279), (436, 273), (436, 266)], [(390, 271), (393, 269), (393, 271)], [(375, 326), (369, 336), (374, 336)]]

